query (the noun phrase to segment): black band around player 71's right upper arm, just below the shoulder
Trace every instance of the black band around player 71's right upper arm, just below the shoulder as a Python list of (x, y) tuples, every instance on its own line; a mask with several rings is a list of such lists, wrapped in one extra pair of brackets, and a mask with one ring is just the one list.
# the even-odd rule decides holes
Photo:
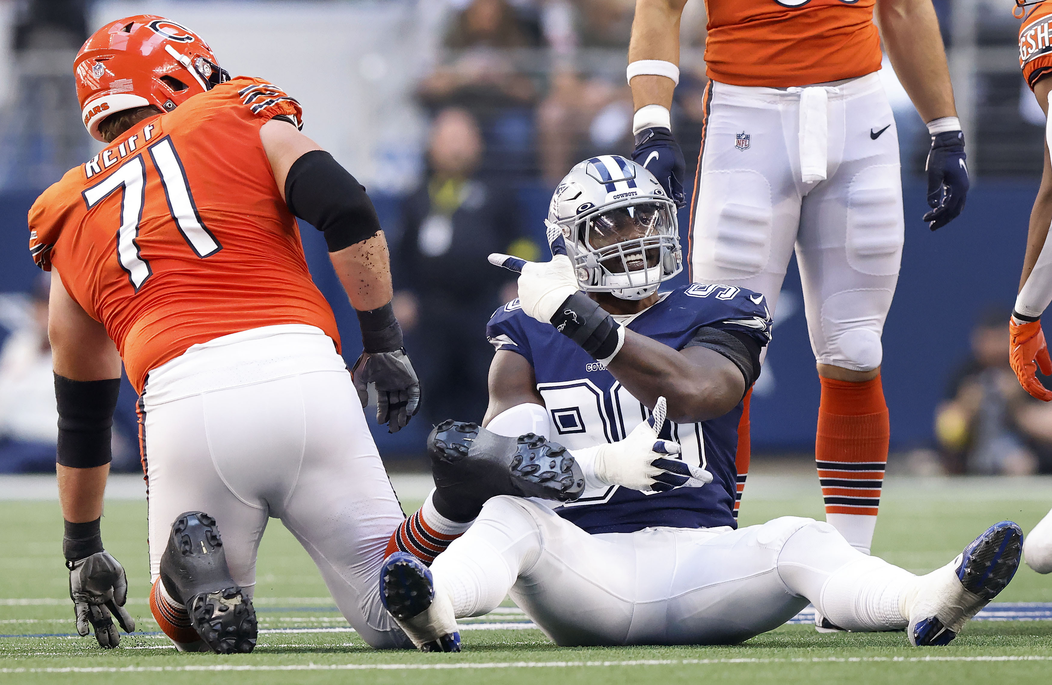
[(365, 188), (323, 149), (292, 162), (285, 177), (288, 210), (325, 235), (335, 253), (380, 231), (380, 219)]

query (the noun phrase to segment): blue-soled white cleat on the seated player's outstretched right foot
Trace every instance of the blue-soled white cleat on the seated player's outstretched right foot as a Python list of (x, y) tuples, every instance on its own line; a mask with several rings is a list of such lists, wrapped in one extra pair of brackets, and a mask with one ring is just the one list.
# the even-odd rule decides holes
[(925, 576), (910, 609), (910, 643), (916, 647), (949, 644), (1005, 589), (1019, 567), (1021, 552), (1023, 529), (1002, 521), (951, 563)]

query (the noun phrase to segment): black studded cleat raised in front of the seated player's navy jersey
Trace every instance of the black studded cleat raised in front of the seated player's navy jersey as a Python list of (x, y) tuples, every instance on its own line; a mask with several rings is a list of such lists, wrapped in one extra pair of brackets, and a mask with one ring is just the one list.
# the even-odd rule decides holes
[(441, 499), (474, 511), (499, 495), (572, 502), (585, 477), (570, 452), (532, 432), (506, 438), (477, 423), (443, 421), (427, 437), (431, 475)]

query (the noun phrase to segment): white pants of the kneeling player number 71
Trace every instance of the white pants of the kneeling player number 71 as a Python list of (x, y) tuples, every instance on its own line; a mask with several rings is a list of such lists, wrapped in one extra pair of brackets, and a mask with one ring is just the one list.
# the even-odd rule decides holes
[(267, 326), (194, 345), (149, 372), (139, 408), (151, 580), (176, 517), (200, 510), (218, 522), (230, 573), (250, 596), (274, 517), (365, 642), (412, 646), (379, 593), (402, 508), (350, 374), (321, 329)]

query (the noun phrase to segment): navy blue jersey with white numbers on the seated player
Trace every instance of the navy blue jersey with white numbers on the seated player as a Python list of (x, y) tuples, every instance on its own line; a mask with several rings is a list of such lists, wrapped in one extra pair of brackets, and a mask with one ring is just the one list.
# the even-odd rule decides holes
[[(616, 317), (630, 330), (683, 349), (704, 326), (749, 334), (764, 346), (771, 320), (764, 296), (729, 285), (694, 283), (663, 294), (650, 308)], [(551, 439), (570, 449), (623, 440), (649, 410), (606, 366), (553, 326), (527, 316), (512, 300), (498, 309), (486, 336), (533, 366), (537, 389), (551, 419)], [(704, 487), (679, 487), (644, 495), (620, 486), (588, 489), (555, 509), (588, 532), (632, 532), (651, 526), (701, 528), (735, 526), (737, 423), (742, 404), (702, 423), (667, 422), (662, 438), (680, 443), (680, 458), (712, 474)]]

